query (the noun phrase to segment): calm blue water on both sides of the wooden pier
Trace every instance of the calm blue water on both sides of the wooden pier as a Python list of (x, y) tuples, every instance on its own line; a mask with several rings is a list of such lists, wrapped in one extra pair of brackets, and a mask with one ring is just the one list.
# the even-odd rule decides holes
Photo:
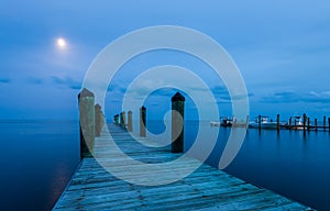
[[(147, 126), (155, 133), (165, 129), (162, 122)], [(207, 160), (218, 166), (230, 129), (202, 126), (219, 130)], [(197, 131), (196, 122), (186, 123), (186, 148)], [(78, 122), (0, 122), (0, 210), (50, 210), (79, 163)], [(329, 132), (249, 130), (224, 170), (316, 209), (330, 209)]]

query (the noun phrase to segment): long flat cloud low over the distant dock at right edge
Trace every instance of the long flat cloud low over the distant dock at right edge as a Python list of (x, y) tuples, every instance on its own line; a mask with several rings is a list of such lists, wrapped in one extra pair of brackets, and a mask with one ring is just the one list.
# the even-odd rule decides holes
[(294, 103), (294, 102), (315, 102), (315, 103), (330, 103), (330, 91), (280, 91), (271, 96), (263, 97), (260, 102), (264, 103)]

